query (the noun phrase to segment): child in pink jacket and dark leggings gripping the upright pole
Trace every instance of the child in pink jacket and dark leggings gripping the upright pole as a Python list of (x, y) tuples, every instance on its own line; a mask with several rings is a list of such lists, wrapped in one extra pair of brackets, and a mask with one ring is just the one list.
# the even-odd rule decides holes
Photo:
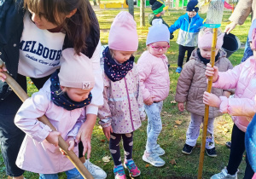
[[(211, 107), (218, 107), (221, 113), (229, 113), (234, 121), (229, 164), (215, 178), (237, 178), (238, 166), (245, 151), (245, 132), (247, 125), (256, 113), (256, 29), (254, 26), (251, 37), (253, 56), (235, 66), (228, 72), (218, 72), (217, 66), (207, 64), (206, 76), (212, 76), (212, 87), (219, 89), (236, 88), (234, 98), (216, 96), (205, 92), (203, 101)], [(253, 170), (247, 162), (244, 178), (252, 178)]]

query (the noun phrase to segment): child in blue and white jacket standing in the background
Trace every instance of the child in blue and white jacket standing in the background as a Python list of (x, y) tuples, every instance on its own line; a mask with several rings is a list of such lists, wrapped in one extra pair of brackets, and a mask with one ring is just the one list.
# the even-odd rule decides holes
[(196, 0), (190, 0), (187, 5), (187, 13), (180, 16), (169, 28), (170, 33), (180, 28), (177, 36), (178, 58), (176, 72), (178, 73), (182, 71), (185, 52), (188, 51), (188, 62), (192, 51), (197, 46), (197, 35), (203, 24), (203, 19), (197, 14), (199, 8), (195, 8), (197, 3)]

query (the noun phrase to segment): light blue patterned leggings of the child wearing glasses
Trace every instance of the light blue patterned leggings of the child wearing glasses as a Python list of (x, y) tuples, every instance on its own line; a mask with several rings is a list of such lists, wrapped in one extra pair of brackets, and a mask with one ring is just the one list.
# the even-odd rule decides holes
[(152, 105), (145, 105), (145, 111), (148, 116), (148, 127), (147, 127), (147, 153), (153, 153), (155, 149), (160, 147), (157, 144), (157, 138), (162, 130), (162, 120), (160, 117), (163, 107), (163, 101), (153, 103)]

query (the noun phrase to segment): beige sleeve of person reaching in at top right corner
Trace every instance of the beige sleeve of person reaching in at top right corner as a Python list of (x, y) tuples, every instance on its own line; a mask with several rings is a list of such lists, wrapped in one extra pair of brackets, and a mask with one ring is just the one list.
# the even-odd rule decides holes
[(237, 3), (234, 13), (231, 14), (229, 20), (242, 25), (250, 13), (252, 13), (252, 21), (256, 19), (256, 0), (241, 0)]

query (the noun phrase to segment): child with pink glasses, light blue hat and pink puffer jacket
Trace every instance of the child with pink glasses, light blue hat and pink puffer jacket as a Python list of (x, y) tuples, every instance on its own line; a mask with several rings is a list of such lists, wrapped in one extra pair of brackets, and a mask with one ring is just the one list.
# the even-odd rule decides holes
[(164, 149), (157, 144), (157, 138), (162, 130), (160, 118), (163, 100), (169, 94), (170, 78), (166, 51), (170, 47), (170, 38), (167, 26), (162, 20), (154, 20), (149, 27), (146, 45), (148, 50), (143, 52), (137, 66), (140, 76), (140, 88), (143, 93), (145, 111), (148, 115), (147, 144), (143, 160), (154, 166), (165, 165), (160, 155)]

